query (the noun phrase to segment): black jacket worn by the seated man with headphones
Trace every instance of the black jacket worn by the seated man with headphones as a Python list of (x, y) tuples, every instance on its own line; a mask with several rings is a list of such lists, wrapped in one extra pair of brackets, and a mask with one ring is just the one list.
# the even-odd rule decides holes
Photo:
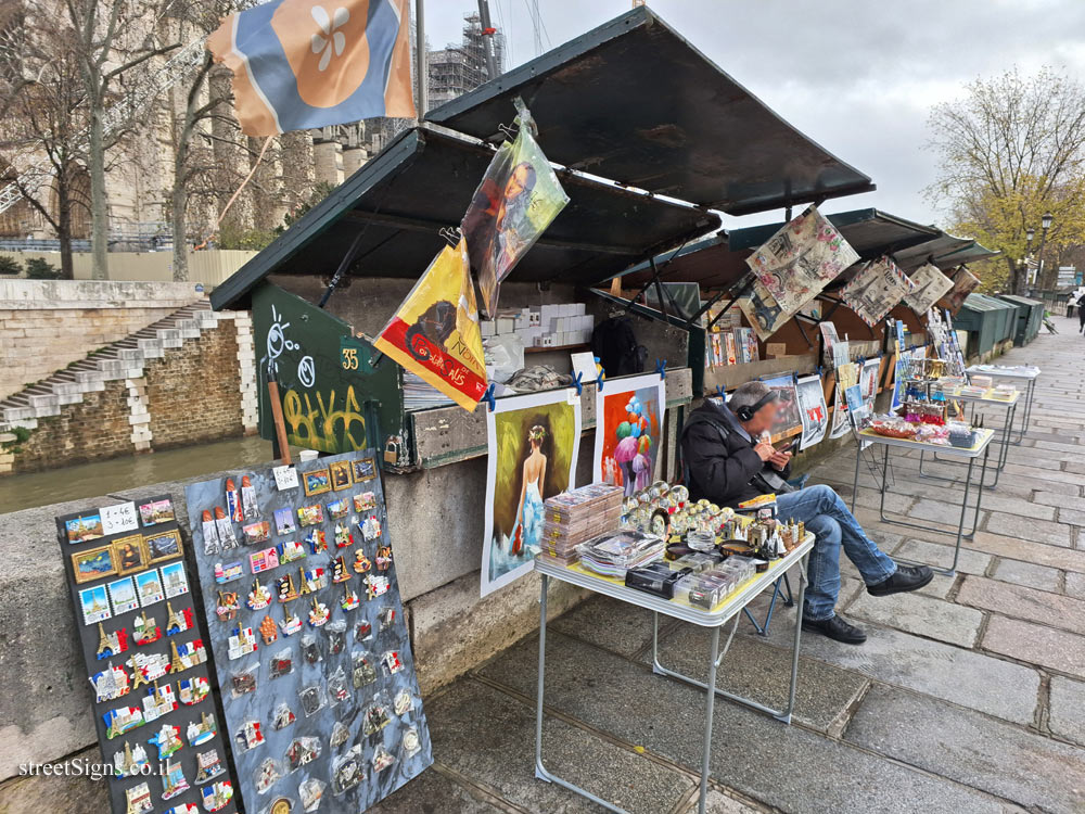
[(764, 463), (753, 444), (729, 423), (723, 409), (710, 400), (689, 414), (681, 430), (686, 486), (691, 500), (707, 498), (719, 506), (736, 506), (773, 492), (763, 473), (787, 479), (791, 465), (778, 472)]

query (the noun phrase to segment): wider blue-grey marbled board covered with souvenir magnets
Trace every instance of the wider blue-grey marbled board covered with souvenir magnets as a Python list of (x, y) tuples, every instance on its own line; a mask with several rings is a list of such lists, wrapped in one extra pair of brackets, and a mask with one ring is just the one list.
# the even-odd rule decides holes
[(432, 762), (372, 449), (187, 487), (246, 812), (365, 811)]

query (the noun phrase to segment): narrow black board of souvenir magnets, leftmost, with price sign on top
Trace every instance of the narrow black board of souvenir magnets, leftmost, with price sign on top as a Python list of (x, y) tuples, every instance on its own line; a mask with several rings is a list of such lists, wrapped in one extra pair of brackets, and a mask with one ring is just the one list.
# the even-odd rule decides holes
[[(56, 518), (114, 814), (237, 811), (168, 495)], [(164, 799), (166, 796), (167, 799)]]

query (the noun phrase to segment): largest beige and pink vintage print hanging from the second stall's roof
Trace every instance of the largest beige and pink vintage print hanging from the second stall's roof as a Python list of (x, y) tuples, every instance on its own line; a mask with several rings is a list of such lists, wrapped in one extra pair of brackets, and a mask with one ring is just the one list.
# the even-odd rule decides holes
[(794, 314), (858, 259), (837, 228), (809, 206), (746, 263), (780, 308)]

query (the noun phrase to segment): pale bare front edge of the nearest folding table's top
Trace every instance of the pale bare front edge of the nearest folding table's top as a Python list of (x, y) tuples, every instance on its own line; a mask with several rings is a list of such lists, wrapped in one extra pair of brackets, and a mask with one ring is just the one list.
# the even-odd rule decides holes
[(593, 590), (597, 594), (621, 599), (623, 602), (647, 608), (656, 613), (674, 616), (684, 622), (690, 622), (701, 627), (718, 627), (745, 608), (761, 592), (779, 580), (792, 565), (800, 562), (813, 547), (814, 534), (807, 532), (806, 538), (789, 551), (787, 556), (770, 562), (767, 571), (755, 574), (746, 580), (737, 590), (711, 611), (694, 608), (679, 599), (664, 599), (661, 596), (648, 594), (643, 590), (627, 588), (624, 581), (592, 574), (578, 563), (560, 565), (557, 562), (536, 557), (535, 570), (554, 580), (561, 580), (562, 582)]

